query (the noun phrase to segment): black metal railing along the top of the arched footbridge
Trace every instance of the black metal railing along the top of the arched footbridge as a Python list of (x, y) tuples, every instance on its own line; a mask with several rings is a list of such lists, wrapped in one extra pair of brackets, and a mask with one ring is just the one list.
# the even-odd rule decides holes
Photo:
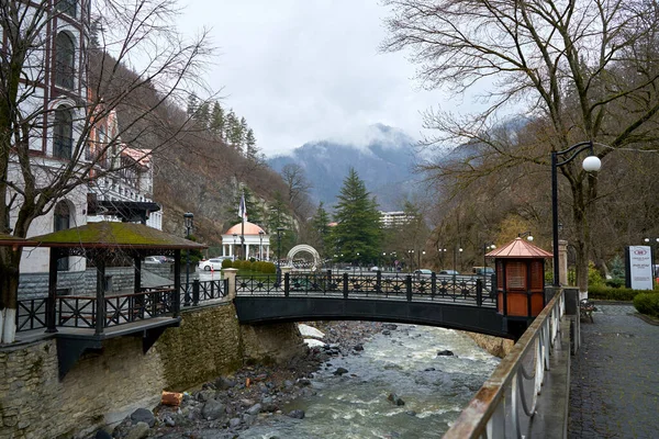
[(494, 307), (492, 279), (423, 274), (353, 274), (326, 272), (289, 272), (276, 275), (236, 277), (238, 295), (313, 295), (344, 299), (399, 299), (440, 301)]

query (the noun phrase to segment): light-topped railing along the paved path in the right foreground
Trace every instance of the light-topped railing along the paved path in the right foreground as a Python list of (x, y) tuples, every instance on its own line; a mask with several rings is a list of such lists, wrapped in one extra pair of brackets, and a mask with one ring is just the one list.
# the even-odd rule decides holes
[(562, 289), (499, 363), (445, 439), (522, 438), (537, 407), (565, 314)]

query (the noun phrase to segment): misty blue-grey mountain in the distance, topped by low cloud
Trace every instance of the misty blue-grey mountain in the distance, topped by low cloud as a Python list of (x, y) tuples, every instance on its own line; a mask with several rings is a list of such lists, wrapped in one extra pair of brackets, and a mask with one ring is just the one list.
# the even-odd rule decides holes
[(278, 172), (288, 164), (300, 165), (313, 184), (312, 200), (332, 210), (350, 167), (367, 190), (377, 198), (380, 210), (402, 209), (402, 200), (418, 190), (418, 176), (412, 173), (416, 161), (416, 142), (393, 127), (369, 126), (359, 146), (339, 140), (310, 142), (288, 156), (268, 160)]

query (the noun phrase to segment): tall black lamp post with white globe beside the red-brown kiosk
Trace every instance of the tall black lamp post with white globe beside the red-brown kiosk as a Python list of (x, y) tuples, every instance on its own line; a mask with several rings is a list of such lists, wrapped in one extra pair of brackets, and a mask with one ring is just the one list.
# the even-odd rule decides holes
[[(581, 151), (588, 149), (590, 155), (581, 166), (587, 172), (596, 172), (602, 167), (600, 158), (593, 153), (592, 142), (580, 142), (568, 149), (551, 151), (551, 229), (554, 240), (554, 286), (560, 286), (558, 267), (558, 167), (572, 161)], [(559, 161), (560, 157), (567, 157)]]

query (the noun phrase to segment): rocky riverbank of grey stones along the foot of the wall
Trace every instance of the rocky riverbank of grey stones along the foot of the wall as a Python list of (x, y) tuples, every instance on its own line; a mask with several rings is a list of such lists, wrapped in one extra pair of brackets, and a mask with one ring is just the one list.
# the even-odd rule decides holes
[(231, 376), (220, 376), (200, 389), (186, 392), (179, 406), (159, 405), (153, 412), (141, 408), (114, 428), (112, 435), (98, 431), (92, 438), (237, 438), (259, 417), (303, 418), (304, 412), (283, 413), (291, 401), (315, 393), (310, 378), (334, 357), (358, 354), (364, 341), (387, 331), (387, 324), (327, 322), (312, 324), (324, 333), (322, 347), (281, 365), (245, 367)]

